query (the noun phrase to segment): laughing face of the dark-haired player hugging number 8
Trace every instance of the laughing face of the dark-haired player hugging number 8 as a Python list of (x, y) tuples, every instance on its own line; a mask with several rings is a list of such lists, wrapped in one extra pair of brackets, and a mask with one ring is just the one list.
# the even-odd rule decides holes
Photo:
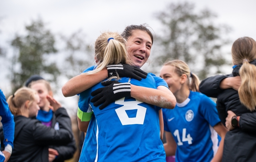
[(134, 30), (126, 43), (127, 52), (135, 66), (141, 68), (150, 55), (152, 41), (149, 34), (142, 30)]

